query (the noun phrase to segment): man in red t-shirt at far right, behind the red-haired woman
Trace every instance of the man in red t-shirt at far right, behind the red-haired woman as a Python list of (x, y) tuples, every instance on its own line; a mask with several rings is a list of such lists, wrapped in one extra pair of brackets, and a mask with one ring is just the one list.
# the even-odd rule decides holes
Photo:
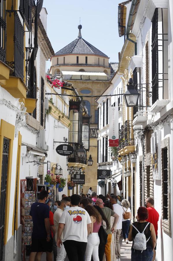
[[(154, 208), (154, 199), (152, 197), (147, 197), (145, 200), (145, 206), (148, 210), (148, 219), (146, 219), (146, 221), (153, 224), (153, 226), (155, 228), (156, 238), (157, 238), (157, 230), (158, 230), (157, 223), (159, 221), (159, 213)], [(155, 249), (153, 250), (153, 253), (154, 254), (153, 254), (152, 261), (154, 261), (155, 257), (156, 257), (156, 246), (155, 246)]]

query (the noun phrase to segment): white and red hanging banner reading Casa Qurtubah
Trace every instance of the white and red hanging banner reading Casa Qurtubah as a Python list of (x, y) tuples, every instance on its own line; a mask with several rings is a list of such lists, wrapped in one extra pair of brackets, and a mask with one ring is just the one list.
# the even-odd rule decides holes
[(109, 107), (109, 147), (118, 147), (118, 107)]

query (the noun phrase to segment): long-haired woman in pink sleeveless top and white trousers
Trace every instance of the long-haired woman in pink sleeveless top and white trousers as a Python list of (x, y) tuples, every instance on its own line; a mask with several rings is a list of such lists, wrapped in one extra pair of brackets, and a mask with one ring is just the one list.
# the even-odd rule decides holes
[(93, 206), (87, 205), (85, 210), (90, 215), (92, 221), (91, 232), (88, 236), (88, 243), (85, 252), (85, 261), (90, 261), (91, 257), (94, 261), (99, 261), (98, 245), (100, 244), (100, 239), (98, 236), (98, 231), (101, 226), (102, 218), (100, 213)]

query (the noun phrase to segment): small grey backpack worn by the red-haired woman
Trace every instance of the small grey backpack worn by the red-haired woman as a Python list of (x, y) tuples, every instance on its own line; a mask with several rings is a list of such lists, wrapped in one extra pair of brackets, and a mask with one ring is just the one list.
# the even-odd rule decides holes
[[(148, 224), (150, 224), (149, 222), (148, 222)], [(132, 226), (137, 230), (137, 234), (136, 234), (136, 236), (135, 236), (135, 238), (133, 239), (133, 249), (134, 249), (134, 251), (135, 250), (140, 250), (141, 251), (141, 253), (142, 253), (142, 251), (143, 250), (146, 250), (146, 243), (148, 242), (148, 240), (150, 239), (150, 237), (148, 238), (148, 240), (146, 240), (146, 236), (145, 236), (145, 234), (144, 234), (144, 231), (146, 230), (146, 228), (147, 228), (147, 226), (148, 226), (148, 224), (146, 225), (146, 227), (144, 228), (144, 230), (142, 231), (142, 233), (140, 233), (139, 232), (139, 230), (135, 227), (135, 226), (133, 226), (133, 224), (132, 224)]]

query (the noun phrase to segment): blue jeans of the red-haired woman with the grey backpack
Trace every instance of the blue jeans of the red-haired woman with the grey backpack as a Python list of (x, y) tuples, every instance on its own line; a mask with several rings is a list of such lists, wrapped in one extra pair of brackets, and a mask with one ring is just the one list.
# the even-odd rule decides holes
[(152, 261), (153, 251), (152, 250), (131, 250), (131, 260), (133, 261)]

